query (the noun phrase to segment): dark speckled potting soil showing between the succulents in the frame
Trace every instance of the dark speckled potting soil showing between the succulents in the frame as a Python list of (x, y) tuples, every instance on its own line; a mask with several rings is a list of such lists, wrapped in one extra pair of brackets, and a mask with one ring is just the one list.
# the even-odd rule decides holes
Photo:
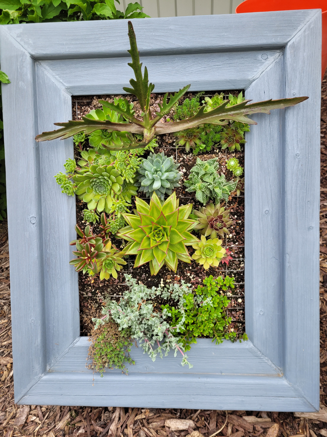
[[(216, 92), (221, 91), (206, 91), (204, 96), (211, 97)], [(240, 90), (225, 91), (225, 98), (228, 94), (237, 95)], [(150, 107), (153, 108), (153, 113), (157, 109), (157, 103), (162, 101), (164, 94), (151, 94)], [(187, 93), (180, 100), (180, 104), (184, 98), (194, 97), (196, 93)], [(202, 96), (202, 97), (204, 97)], [(122, 96), (116, 96), (122, 97)], [(136, 111), (136, 116), (140, 115), (140, 108), (138, 107), (138, 102), (135, 101), (135, 97), (132, 95), (124, 95), (129, 101), (133, 101), (134, 110)], [(102, 108), (102, 105), (98, 103), (99, 100), (113, 101), (113, 96), (76, 96), (72, 98), (72, 112), (73, 119), (81, 119), (83, 115), (88, 114), (89, 111), (96, 108)], [(201, 97), (200, 97), (201, 101)], [(171, 111), (167, 116), (172, 117), (174, 111)], [(77, 115), (77, 117), (76, 117)], [(165, 121), (167, 117), (164, 118)], [(197, 156), (201, 160), (208, 160), (211, 158), (218, 158), (219, 168), (218, 173), (224, 173), (227, 180), (233, 178), (232, 172), (226, 168), (226, 160), (235, 156), (242, 167), (244, 167), (244, 148), (242, 147), (241, 152), (234, 151), (227, 152), (221, 150), (220, 147), (213, 146), (211, 152), (200, 152), (197, 156), (194, 156), (192, 149), (189, 152), (185, 152), (184, 147), (175, 148), (174, 142), (176, 137), (168, 135), (159, 135), (157, 137), (158, 147), (154, 149), (155, 153), (164, 151), (167, 156), (173, 156), (174, 160), (180, 164), (179, 170), (183, 173), (180, 180), (181, 184), (187, 180), (191, 168), (194, 166), (197, 160)], [(85, 142), (83, 149), (87, 149), (88, 143)], [(149, 155), (149, 151), (146, 151), (143, 157)], [(80, 159), (78, 149), (75, 148), (75, 158)], [(244, 175), (242, 175), (244, 176)], [(234, 177), (235, 178), (235, 177)], [(188, 193), (182, 185), (180, 188), (176, 189), (177, 197), (180, 199), (180, 205), (185, 205), (193, 203), (194, 209), (199, 209), (203, 205), (200, 204), (195, 199), (195, 193)], [(230, 217), (233, 220), (233, 224), (228, 228), (230, 231), (229, 235), (224, 237), (225, 248), (231, 251), (232, 260), (229, 261), (228, 266), (226, 264), (219, 264), (217, 268), (210, 267), (208, 270), (204, 270), (203, 266), (192, 261), (192, 264), (178, 262), (177, 272), (171, 272), (166, 266), (162, 267), (157, 276), (151, 276), (149, 264), (145, 264), (141, 267), (133, 269), (133, 264), (135, 256), (129, 256), (126, 259), (127, 264), (124, 266), (123, 270), (118, 273), (117, 279), (110, 277), (108, 281), (100, 281), (99, 274), (95, 277), (88, 277), (87, 274), (79, 272), (78, 274), (78, 285), (79, 285), (79, 302), (80, 302), (80, 329), (81, 335), (89, 336), (92, 333), (94, 323), (92, 322), (92, 317), (99, 317), (101, 315), (102, 305), (108, 298), (117, 299), (126, 290), (126, 283), (124, 274), (130, 274), (132, 277), (136, 278), (137, 281), (145, 284), (148, 288), (153, 286), (158, 287), (161, 285), (169, 284), (169, 282), (181, 283), (184, 280), (186, 283), (191, 284), (195, 288), (202, 284), (203, 279), (209, 275), (213, 277), (218, 277), (226, 275), (230, 277), (235, 277), (235, 288), (229, 289), (227, 292), (228, 298), (231, 300), (228, 305), (228, 316), (232, 317), (232, 324), (228, 329), (234, 329), (238, 334), (245, 332), (245, 312), (244, 312), (244, 193), (237, 197), (233, 196), (229, 199), (228, 205), (226, 207), (225, 202), (221, 201), (221, 205), (225, 208), (230, 208)], [(143, 197), (143, 193), (142, 196)], [(148, 198), (147, 201), (150, 201)], [(132, 198), (131, 210), (134, 208), (134, 201)], [(86, 208), (86, 204), (79, 201), (76, 198), (76, 217), (77, 224), (84, 229), (86, 222), (83, 221), (83, 209)], [(98, 226), (94, 226), (94, 232), (98, 231)], [(123, 247), (122, 240), (112, 238), (112, 243), (117, 247)], [(192, 246), (187, 247), (190, 255), (194, 252)], [(162, 302), (157, 302), (158, 309)]]

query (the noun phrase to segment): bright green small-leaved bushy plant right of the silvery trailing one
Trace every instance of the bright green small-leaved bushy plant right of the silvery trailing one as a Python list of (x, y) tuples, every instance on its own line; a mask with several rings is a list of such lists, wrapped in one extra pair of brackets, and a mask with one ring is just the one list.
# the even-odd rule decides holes
[[(192, 293), (184, 294), (182, 305), (162, 305), (171, 318), (170, 329), (177, 329), (183, 321), (183, 327), (179, 328), (184, 350), (190, 350), (191, 343), (196, 343), (196, 337), (208, 336), (216, 344), (222, 343), (223, 339), (235, 341), (237, 333), (227, 330), (232, 318), (226, 315), (225, 309), (231, 302), (221, 291), (227, 290), (234, 278), (221, 276), (214, 279), (212, 275), (203, 280), (204, 285), (198, 285)], [(232, 284), (233, 288), (234, 285)], [(221, 289), (220, 289), (221, 288)], [(248, 340), (248, 336), (239, 336), (239, 341)]]

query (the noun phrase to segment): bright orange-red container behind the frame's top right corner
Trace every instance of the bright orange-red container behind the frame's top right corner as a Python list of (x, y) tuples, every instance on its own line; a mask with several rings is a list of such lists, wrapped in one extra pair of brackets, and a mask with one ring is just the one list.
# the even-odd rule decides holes
[(323, 80), (327, 68), (327, 0), (245, 0), (238, 5), (235, 12), (240, 14), (294, 9), (321, 9), (322, 11), (321, 80)]

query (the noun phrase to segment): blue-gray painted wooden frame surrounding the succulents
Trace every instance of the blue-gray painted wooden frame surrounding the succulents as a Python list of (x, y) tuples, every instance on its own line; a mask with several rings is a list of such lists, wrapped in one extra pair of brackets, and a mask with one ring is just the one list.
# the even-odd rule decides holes
[(321, 11), (133, 20), (155, 92), (245, 89), (253, 101), (309, 96), (245, 145), (249, 341), (193, 345), (182, 368), (140, 348), (129, 376), (85, 368), (78, 275), (68, 264), (75, 199), (54, 174), (72, 139), (35, 135), (72, 118), (71, 95), (121, 94), (133, 76), (127, 21), (0, 26), (14, 391), (18, 404), (269, 411), (319, 409)]

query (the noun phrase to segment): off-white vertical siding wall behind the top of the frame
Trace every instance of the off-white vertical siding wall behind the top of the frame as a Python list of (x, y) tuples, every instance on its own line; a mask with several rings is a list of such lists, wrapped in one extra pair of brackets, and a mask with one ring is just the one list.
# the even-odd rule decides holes
[[(120, 0), (121, 8), (135, 0)], [(235, 14), (243, 0), (138, 0), (150, 17), (181, 17), (183, 15)]]

